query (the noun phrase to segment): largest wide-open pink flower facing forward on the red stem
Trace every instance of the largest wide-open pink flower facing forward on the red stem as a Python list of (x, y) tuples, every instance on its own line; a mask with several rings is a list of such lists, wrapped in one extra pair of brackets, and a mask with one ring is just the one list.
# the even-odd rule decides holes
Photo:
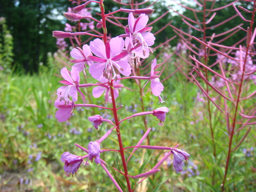
[(104, 77), (110, 80), (113, 73), (113, 78), (115, 78), (114, 66), (122, 75), (129, 76), (132, 68), (126, 59), (121, 60), (128, 54), (127, 52), (122, 52), (123, 48), (124, 40), (120, 37), (112, 38), (110, 42), (106, 43), (106, 46), (100, 39), (90, 42), (90, 49), (96, 55), (88, 57), (89, 60), (95, 62), (89, 68), (92, 77), (99, 79), (103, 74)]

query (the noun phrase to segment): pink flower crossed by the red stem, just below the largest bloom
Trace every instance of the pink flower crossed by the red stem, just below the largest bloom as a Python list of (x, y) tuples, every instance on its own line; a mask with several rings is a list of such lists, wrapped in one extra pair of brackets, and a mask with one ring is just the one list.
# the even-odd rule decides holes
[[(120, 78), (120, 75), (116, 75), (116, 78)], [(108, 79), (106, 79), (104, 76), (101, 76), (98, 80), (102, 83), (108, 82)], [(118, 94), (119, 94), (118, 88), (121, 88), (122, 86), (124, 86), (122, 84), (119, 84), (119, 82), (120, 82), (120, 80), (116, 80), (113, 83), (115, 99), (118, 97)], [(105, 94), (104, 94), (105, 102), (106, 103), (108, 101), (112, 102), (111, 97), (109, 96), (109, 93), (110, 93), (110, 86), (109, 85), (104, 84), (104, 85), (100, 85), (100, 86), (97, 86), (97, 87), (93, 88), (92, 95), (94, 96), (94, 98), (99, 98), (103, 94), (104, 91), (105, 91)]]

